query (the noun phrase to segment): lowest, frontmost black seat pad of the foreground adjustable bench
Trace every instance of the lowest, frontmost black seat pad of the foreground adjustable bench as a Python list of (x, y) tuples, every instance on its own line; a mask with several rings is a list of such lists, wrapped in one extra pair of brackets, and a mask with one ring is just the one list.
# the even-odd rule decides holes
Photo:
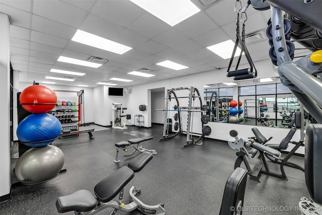
[(58, 212), (90, 211), (95, 208), (97, 200), (89, 190), (77, 190), (76, 192), (60, 196), (56, 200)]

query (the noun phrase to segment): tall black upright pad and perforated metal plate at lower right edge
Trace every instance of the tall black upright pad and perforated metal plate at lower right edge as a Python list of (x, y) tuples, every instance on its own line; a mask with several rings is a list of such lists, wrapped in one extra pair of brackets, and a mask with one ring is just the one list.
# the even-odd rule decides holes
[(301, 197), (302, 214), (322, 214), (322, 125), (309, 124), (305, 134), (305, 183), (312, 200)]

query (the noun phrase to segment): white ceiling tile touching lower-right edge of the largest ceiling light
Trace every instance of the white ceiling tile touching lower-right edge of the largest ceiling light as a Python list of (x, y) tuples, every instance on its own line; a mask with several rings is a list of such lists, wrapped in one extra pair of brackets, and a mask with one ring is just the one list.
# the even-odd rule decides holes
[(209, 32), (212, 29), (216, 29), (218, 26), (211, 19), (209, 19), (204, 12), (199, 12), (175, 25), (174, 28), (178, 29), (186, 36), (193, 38)]

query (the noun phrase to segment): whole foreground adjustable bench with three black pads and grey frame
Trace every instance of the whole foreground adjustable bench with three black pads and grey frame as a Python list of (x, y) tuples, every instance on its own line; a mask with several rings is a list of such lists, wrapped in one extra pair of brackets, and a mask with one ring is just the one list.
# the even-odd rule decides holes
[[(60, 196), (56, 200), (56, 208), (60, 213), (75, 211), (75, 214), (95, 214), (108, 207), (129, 212), (136, 208), (144, 214), (164, 215), (164, 204), (147, 205), (141, 202), (135, 195), (140, 193), (140, 188), (134, 186), (130, 189), (131, 203), (122, 202), (124, 187), (134, 177), (134, 172), (139, 172), (153, 158), (149, 152), (143, 152), (111, 175), (100, 181), (94, 188), (95, 195), (89, 190), (78, 190), (72, 194)], [(113, 200), (119, 194), (118, 199)]]

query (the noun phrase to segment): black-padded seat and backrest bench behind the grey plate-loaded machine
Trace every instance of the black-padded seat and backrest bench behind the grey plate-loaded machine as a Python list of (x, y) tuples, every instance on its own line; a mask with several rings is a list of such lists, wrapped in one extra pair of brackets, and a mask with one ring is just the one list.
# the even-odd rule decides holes
[[(253, 133), (255, 134), (256, 137), (256, 142), (258, 142), (259, 144), (263, 144), (267, 147), (273, 148), (277, 151), (279, 151), (280, 155), (279, 157), (281, 157), (281, 151), (282, 150), (286, 150), (288, 148), (288, 144), (292, 143), (295, 146), (293, 147), (293, 149), (287, 154), (287, 156), (283, 159), (284, 160), (284, 165), (285, 166), (289, 166), (289, 167), (293, 167), (296, 169), (299, 169), (301, 171), (304, 172), (303, 167), (298, 166), (297, 164), (288, 162), (288, 159), (295, 153), (295, 151), (300, 147), (300, 146), (304, 146), (303, 144), (303, 140), (300, 140), (298, 142), (295, 141), (291, 141), (292, 137), (294, 136), (295, 132), (296, 132), (296, 128), (293, 127), (290, 129), (290, 131), (287, 133), (287, 135), (282, 139), (282, 141), (279, 144), (273, 144), (268, 142), (268, 140), (266, 139), (266, 137), (258, 130), (258, 128), (254, 127), (252, 128)], [(270, 137), (269, 139), (271, 139), (272, 137)], [(271, 160), (274, 163), (278, 163), (281, 164), (280, 160), (277, 160), (275, 158), (272, 158), (269, 154), (265, 154), (265, 156)]]

